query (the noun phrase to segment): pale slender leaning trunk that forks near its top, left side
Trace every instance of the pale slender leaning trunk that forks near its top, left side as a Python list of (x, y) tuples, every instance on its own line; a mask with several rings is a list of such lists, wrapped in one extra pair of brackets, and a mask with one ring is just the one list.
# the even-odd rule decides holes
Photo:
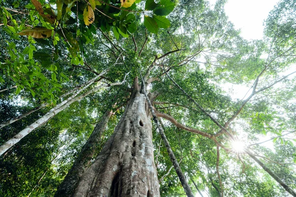
[[(101, 73), (103, 74), (103, 72)], [(100, 75), (98, 75), (97, 77), (99, 77)], [(93, 81), (95, 79), (97, 79), (97, 77), (93, 78)], [(126, 77), (126, 75), (125, 75)], [(109, 86), (114, 86), (114, 85), (121, 85), (124, 81), (125, 81), (125, 77), (123, 79), (122, 82), (118, 82), (118, 83), (112, 83), (112, 84), (103, 84), (100, 86), (97, 86), (91, 90), (89, 90), (88, 92), (74, 98), (75, 96), (77, 96), (82, 90), (86, 89), (88, 86), (90, 86), (92, 83), (87, 84), (86, 86), (84, 86), (82, 89), (78, 90), (73, 96), (71, 96), (70, 98), (66, 99), (65, 101), (63, 101), (62, 103), (64, 103), (64, 105), (61, 106), (62, 103), (60, 103), (59, 105), (57, 105), (56, 107), (54, 107), (53, 109), (51, 109), (49, 112), (47, 112), (44, 116), (42, 116), (41, 118), (39, 118), (36, 122), (32, 123), (30, 126), (26, 127), (24, 130), (20, 131), (18, 134), (16, 134), (14, 137), (12, 137), (11, 139), (9, 139), (7, 142), (5, 142), (4, 144), (2, 144), (0, 146), (0, 156), (5, 153), (10, 147), (12, 147), (14, 144), (16, 144), (17, 142), (19, 142), (23, 137), (25, 137), (27, 134), (29, 134), (30, 132), (34, 131), (36, 128), (40, 127), (41, 125), (45, 124), (48, 120), (50, 120), (52, 117), (54, 117), (56, 114), (58, 114), (59, 112), (61, 112), (62, 110), (64, 110), (66, 107), (68, 107), (70, 104), (72, 104), (73, 102), (80, 100), (84, 97), (86, 97), (87, 95), (96, 92), (97, 90), (103, 88), (103, 87), (109, 87)]]

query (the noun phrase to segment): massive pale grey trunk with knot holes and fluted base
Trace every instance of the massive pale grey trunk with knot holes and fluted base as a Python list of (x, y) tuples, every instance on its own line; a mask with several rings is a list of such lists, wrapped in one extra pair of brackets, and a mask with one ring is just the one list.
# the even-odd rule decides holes
[(125, 111), (96, 161), (84, 172), (74, 197), (159, 197), (152, 125), (138, 79)]

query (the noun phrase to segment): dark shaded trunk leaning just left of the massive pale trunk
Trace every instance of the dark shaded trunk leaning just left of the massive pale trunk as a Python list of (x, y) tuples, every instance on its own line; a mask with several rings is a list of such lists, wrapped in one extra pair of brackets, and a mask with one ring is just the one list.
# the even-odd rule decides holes
[(107, 111), (101, 121), (96, 125), (94, 131), (89, 136), (88, 140), (83, 145), (78, 158), (69, 170), (62, 184), (59, 186), (55, 197), (70, 197), (73, 193), (76, 183), (79, 178), (88, 168), (94, 156), (95, 150), (99, 145), (102, 133), (106, 129), (108, 121), (112, 115), (112, 111)]

